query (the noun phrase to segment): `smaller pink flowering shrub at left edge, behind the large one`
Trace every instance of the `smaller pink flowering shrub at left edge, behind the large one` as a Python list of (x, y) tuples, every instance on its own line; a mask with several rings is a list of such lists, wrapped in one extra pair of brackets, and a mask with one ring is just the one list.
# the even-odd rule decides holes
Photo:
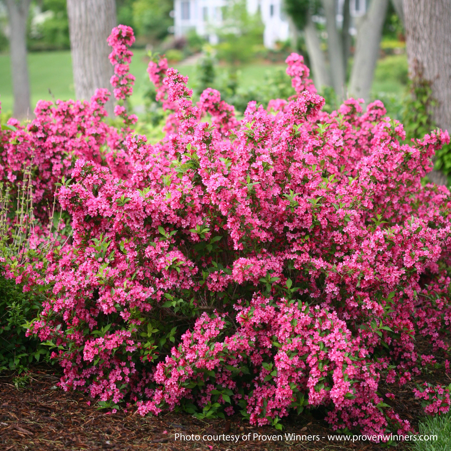
[(24, 168), (34, 173), (35, 205), (53, 203), (55, 183), (64, 175), (70, 177), (78, 158), (107, 161), (115, 175), (126, 170), (127, 156), (118, 148), (121, 136), (103, 119), (109, 92), (98, 89), (91, 101), (38, 101), (36, 116), (30, 124), (20, 125), (9, 119), (2, 131), (0, 145), (0, 177), (17, 188)]

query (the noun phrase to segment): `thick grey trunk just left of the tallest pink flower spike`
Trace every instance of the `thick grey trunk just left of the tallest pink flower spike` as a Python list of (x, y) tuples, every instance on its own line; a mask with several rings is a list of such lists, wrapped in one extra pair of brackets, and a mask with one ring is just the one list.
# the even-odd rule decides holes
[[(102, 87), (112, 93), (113, 66), (106, 38), (116, 26), (115, 0), (67, 0), (67, 14), (75, 96), (90, 99)], [(107, 102), (106, 110), (113, 115), (113, 100)]]

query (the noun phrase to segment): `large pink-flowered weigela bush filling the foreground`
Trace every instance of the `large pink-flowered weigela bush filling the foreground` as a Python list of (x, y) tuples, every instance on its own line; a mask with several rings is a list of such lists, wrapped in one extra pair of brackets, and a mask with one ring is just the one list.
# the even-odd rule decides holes
[[(131, 36), (113, 31), (115, 64)], [(450, 193), (421, 180), (449, 136), (401, 145), (380, 101), (329, 115), (302, 57), (287, 64), (296, 96), (238, 121), (219, 92), (194, 105), (187, 77), (151, 61), (166, 138), (128, 133), (118, 108), (127, 170), (79, 155), (57, 192), (73, 237), (46, 256), (29, 331), (57, 346), (65, 390), (140, 414), (239, 410), (281, 428), (323, 406), (335, 429), (411, 429), (378, 387), (437, 362), (416, 336), (447, 350)], [(119, 98), (133, 83), (120, 69)]]

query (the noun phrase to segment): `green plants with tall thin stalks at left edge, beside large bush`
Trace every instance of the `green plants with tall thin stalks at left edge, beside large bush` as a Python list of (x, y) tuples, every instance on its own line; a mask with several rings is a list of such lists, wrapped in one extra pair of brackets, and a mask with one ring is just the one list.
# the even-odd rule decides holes
[(43, 256), (53, 246), (51, 240), (61, 218), (51, 213), (47, 230), (42, 230), (48, 239), (41, 240), (37, 247), (30, 246), (32, 230), (40, 227), (33, 215), (32, 177), (31, 168), (24, 168), (18, 189), (16, 185), (0, 184), (0, 372), (20, 374), (33, 361), (50, 359), (48, 347), (37, 336), (27, 336), (27, 329), (42, 310), (45, 287), (24, 291), (20, 279), (30, 265), (46, 267)]

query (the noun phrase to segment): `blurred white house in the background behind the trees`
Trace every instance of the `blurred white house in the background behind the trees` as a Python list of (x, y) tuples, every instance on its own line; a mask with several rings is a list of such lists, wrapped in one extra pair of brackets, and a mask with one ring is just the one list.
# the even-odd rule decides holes
[[(338, 0), (337, 23), (343, 22), (343, 4), (345, 0)], [(208, 37), (210, 43), (217, 43), (215, 28), (222, 24), (222, 8), (227, 0), (174, 0), (174, 34), (181, 37), (195, 29), (199, 36)], [(263, 44), (267, 48), (274, 48), (277, 41), (286, 41), (290, 36), (289, 23), (283, 9), (283, 0), (246, 0), (250, 14), (260, 10), (263, 25)], [(359, 17), (366, 12), (366, 0), (351, 0), (350, 14), (352, 18)], [(352, 28), (353, 31), (354, 28)]]

